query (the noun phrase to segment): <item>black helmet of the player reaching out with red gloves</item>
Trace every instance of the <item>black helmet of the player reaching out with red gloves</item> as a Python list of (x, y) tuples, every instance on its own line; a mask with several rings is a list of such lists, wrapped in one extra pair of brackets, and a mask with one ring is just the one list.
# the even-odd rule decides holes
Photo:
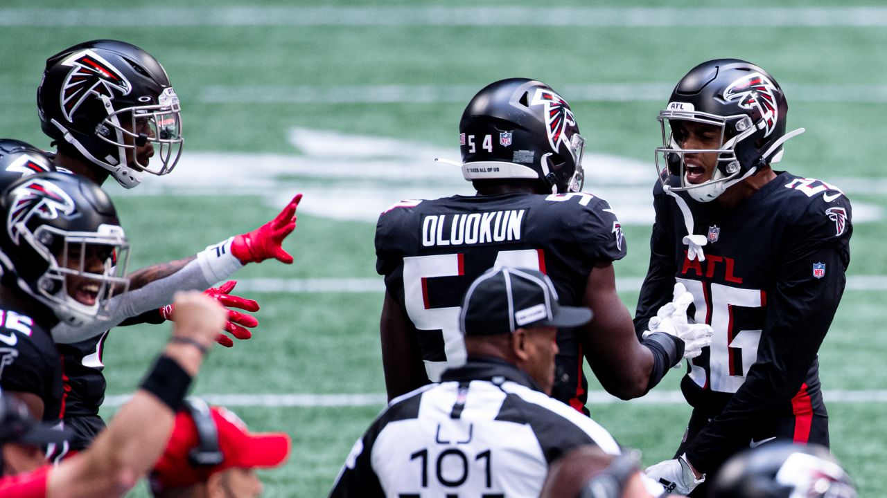
[[(130, 43), (94, 40), (46, 59), (37, 111), (59, 147), (106, 168), (128, 189), (145, 171), (169, 173), (182, 152), (176, 91), (160, 63)], [(159, 166), (135, 154), (146, 143)]]

